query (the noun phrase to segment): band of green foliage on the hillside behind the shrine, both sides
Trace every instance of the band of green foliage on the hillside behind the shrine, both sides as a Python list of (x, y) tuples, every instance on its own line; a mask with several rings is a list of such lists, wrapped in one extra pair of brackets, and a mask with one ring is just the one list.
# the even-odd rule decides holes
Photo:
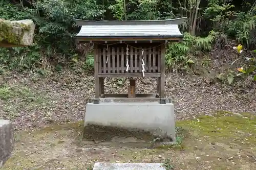
[[(234, 6), (233, 2), (223, 0), (41, 0), (28, 5), (27, 1), (13, 3), (2, 0), (0, 17), (10, 20), (33, 19), (36, 34), (33, 46), (0, 49), (0, 74), (5, 69), (11, 69), (45, 75), (50, 69), (60, 71), (67, 65), (93, 69), (92, 53), (81, 56), (83, 54), (74, 46), (73, 36), (80, 28), (75, 25), (73, 18), (150, 20), (187, 16), (187, 22), (180, 26), (185, 37), (180, 43), (168, 45), (165, 62), (167, 69), (189, 70), (198, 64), (198, 60), (202, 60), (201, 56), (212, 50), (220, 35), (225, 39), (236, 38), (239, 43), (247, 44), (248, 48), (256, 47), (256, 3), (243, 1), (242, 4), (241, 7)], [(253, 65), (251, 62), (248, 62), (248, 68)], [(209, 65), (208, 60), (201, 62), (201, 66)], [(233, 79), (232, 76), (225, 76), (224, 81), (230, 83)]]

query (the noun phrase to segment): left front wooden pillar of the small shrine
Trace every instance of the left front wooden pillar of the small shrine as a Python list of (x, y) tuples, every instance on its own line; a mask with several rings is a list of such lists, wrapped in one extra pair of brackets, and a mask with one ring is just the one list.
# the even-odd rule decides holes
[(95, 99), (94, 104), (99, 104), (100, 84), (99, 84), (99, 57), (98, 45), (94, 44), (94, 80), (95, 80)]

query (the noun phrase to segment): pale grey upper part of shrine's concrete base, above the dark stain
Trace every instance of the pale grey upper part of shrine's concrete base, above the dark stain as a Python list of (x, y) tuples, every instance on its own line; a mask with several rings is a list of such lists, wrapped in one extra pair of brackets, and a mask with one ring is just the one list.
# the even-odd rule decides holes
[(175, 141), (172, 103), (88, 103), (84, 120), (87, 125), (144, 130)]

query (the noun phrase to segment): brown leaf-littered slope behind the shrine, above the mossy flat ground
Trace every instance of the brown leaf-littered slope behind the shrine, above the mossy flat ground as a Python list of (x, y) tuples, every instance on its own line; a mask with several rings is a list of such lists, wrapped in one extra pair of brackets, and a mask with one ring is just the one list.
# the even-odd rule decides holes
[[(128, 83), (125, 79), (107, 79), (105, 91), (125, 93)], [(155, 79), (136, 83), (137, 93), (155, 92)], [(3, 76), (0, 87), (0, 118), (13, 120), (16, 129), (37, 128), (82, 120), (85, 104), (94, 95), (94, 78), (70, 71), (44, 79), (12, 75)], [(166, 75), (166, 96), (175, 104), (177, 119), (217, 110), (256, 112), (255, 87), (251, 81), (227, 85), (200, 77)]]

